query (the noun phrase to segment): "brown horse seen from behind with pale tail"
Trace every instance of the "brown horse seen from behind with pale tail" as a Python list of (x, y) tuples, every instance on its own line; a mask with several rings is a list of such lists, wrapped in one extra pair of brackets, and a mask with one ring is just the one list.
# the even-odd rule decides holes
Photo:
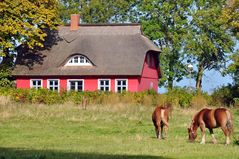
[(158, 106), (152, 114), (152, 121), (154, 123), (156, 137), (158, 139), (163, 137), (163, 129), (165, 129), (165, 136), (167, 135), (169, 113), (171, 112), (171, 108), (171, 104)]

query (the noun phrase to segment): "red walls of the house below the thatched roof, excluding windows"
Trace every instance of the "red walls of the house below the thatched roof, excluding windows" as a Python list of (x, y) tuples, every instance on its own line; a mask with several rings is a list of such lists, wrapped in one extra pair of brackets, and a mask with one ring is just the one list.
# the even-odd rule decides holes
[[(150, 60), (147, 59), (150, 56)], [(60, 90), (67, 90), (68, 79), (84, 79), (84, 90), (85, 91), (96, 91), (98, 90), (98, 79), (110, 79), (111, 91), (115, 92), (115, 79), (128, 79), (128, 91), (137, 92), (144, 91), (150, 88), (155, 91), (158, 90), (158, 71), (156, 68), (158, 53), (149, 52), (146, 55), (142, 76), (74, 76), (74, 77), (16, 77), (17, 88), (30, 88), (30, 79), (42, 79), (43, 88), (47, 88), (47, 79), (59, 79)], [(148, 63), (150, 61), (150, 63)]]

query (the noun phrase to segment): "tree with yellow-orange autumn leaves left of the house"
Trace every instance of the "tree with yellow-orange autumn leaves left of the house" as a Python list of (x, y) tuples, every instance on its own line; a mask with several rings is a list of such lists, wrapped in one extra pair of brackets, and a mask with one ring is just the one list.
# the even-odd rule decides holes
[(58, 24), (57, 6), (57, 0), (0, 1), (1, 65), (11, 64), (11, 53), (20, 44), (43, 47), (45, 29), (56, 29)]

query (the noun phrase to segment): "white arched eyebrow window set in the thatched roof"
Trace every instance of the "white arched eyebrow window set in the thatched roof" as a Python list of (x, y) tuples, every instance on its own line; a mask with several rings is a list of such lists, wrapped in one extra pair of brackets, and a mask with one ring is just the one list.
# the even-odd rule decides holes
[(66, 63), (66, 66), (92, 66), (92, 64), (85, 56), (75, 55)]

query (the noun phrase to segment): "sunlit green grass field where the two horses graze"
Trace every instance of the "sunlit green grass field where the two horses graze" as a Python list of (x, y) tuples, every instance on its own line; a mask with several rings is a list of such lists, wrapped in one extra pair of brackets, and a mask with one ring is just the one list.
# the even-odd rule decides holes
[[(64, 105), (0, 105), (0, 158), (239, 158), (235, 139), (228, 146), (220, 129), (218, 144), (187, 141), (194, 109), (174, 108), (168, 138), (157, 140), (151, 106), (90, 105), (86, 110)], [(239, 109), (234, 115), (234, 136), (239, 136)], [(198, 130), (198, 133), (199, 130)], [(234, 142), (234, 143), (233, 143)]]

